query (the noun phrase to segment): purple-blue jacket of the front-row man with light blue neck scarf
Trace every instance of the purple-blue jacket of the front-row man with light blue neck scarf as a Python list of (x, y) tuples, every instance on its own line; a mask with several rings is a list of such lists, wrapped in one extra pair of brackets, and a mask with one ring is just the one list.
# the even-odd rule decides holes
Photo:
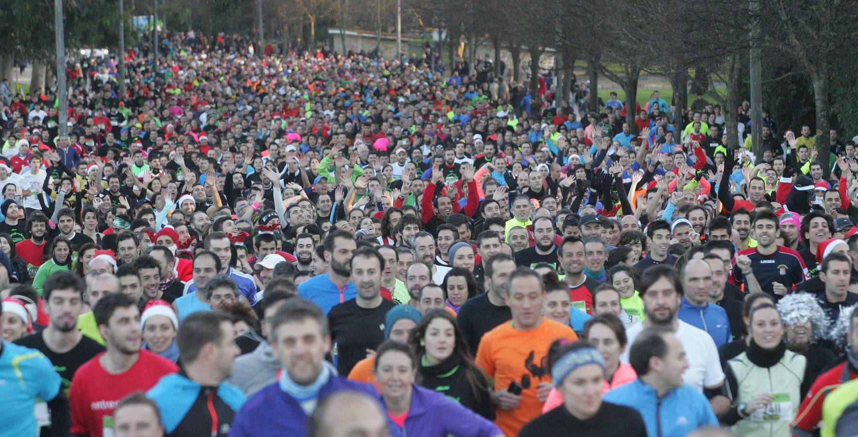
[[(381, 402), (375, 387), (334, 375), (319, 389), (318, 400), (342, 390), (365, 392)], [(307, 416), (298, 400), (283, 392), (280, 382), (275, 381), (247, 399), (241, 410), (235, 413), (229, 437), (302, 436), (307, 435), (309, 421), (310, 416)], [(391, 431), (399, 435), (396, 426), (391, 425)]]

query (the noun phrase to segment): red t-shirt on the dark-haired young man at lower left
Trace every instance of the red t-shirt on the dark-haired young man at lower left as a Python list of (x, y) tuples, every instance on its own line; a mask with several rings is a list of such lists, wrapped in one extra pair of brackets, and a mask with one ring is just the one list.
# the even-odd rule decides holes
[(104, 352), (85, 362), (71, 380), (71, 434), (103, 437), (106, 428), (112, 430), (113, 409), (119, 399), (138, 390), (145, 392), (165, 374), (178, 372), (174, 362), (140, 350), (131, 368), (108, 374), (99, 362), (102, 355)]

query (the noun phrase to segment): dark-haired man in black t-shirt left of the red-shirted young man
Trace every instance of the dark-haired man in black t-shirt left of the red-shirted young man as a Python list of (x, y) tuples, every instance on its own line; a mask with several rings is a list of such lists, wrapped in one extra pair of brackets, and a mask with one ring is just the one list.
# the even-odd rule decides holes
[(85, 362), (105, 348), (77, 329), (77, 317), (84, 310), (84, 284), (71, 272), (57, 272), (45, 280), (42, 298), (51, 322), (42, 332), (21, 338), (15, 344), (39, 350), (62, 378), (60, 390), (69, 394), (72, 376)]

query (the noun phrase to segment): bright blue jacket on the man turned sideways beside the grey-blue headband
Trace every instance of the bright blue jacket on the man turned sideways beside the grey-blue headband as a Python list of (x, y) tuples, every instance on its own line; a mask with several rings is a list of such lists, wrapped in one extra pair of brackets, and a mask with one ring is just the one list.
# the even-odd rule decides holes
[(709, 401), (688, 384), (659, 398), (655, 388), (638, 378), (605, 393), (604, 400), (637, 410), (650, 437), (682, 437), (698, 427), (718, 426)]

